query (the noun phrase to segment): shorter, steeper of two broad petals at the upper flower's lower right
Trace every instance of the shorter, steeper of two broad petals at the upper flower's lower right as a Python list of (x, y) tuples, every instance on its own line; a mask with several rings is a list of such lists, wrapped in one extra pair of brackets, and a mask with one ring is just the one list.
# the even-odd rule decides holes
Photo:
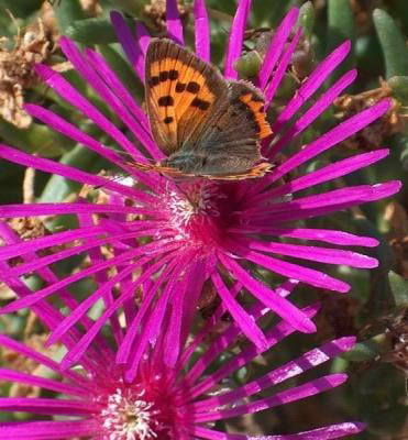
[(211, 277), (214, 287), (220, 295), (227, 310), (236, 321), (242, 332), (250, 339), (258, 349), (266, 350), (268, 344), (265, 334), (256, 324), (255, 320), (245, 311), (243, 307), (233, 298), (230, 290), (227, 288), (219, 273), (213, 273)]

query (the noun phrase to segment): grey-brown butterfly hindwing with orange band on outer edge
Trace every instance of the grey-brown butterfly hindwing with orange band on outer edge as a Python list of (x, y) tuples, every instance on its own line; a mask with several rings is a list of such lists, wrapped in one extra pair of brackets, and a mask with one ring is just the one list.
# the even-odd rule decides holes
[[(262, 157), (260, 140), (272, 132), (258, 90), (245, 81), (229, 81), (227, 97), (219, 103), (206, 125), (194, 131), (186, 144), (168, 158), (167, 164), (186, 157), (186, 172), (205, 176), (245, 174)], [(200, 158), (192, 161), (191, 155)]]

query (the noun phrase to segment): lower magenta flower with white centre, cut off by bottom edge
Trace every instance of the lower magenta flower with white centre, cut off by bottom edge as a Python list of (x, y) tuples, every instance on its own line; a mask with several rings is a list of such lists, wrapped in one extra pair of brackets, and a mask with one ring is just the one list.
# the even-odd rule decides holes
[[(200, 271), (200, 264), (195, 264)], [(286, 283), (279, 294), (288, 295), (296, 283)], [(180, 287), (180, 286), (175, 286)], [(24, 296), (24, 286), (16, 286)], [(176, 305), (174, 305), (176, 307)], [(191, 307), (189, 308), (191, 310)], [(309, 319), (318, 307), (302, 309)], [(161, 309), (162, 310), (162, 309)], [(48, 305), (37, 306), (40, 317), (53, 329), (60, 315)], [(268, 312), (261, 302), (249, 309), (254, 320)], [(279, 405), (300, 400), (330, 391), (346, 380), (345, 374), (322, 375), (296, 383), (299, 375), (321, 365), (335, 355), (350, 350), (354, 338), (341, 338), (304, 353), (265, 375), (236, 388), (227, 378), (251, 362), (264, 350), (253, 344), (236, 345), (242, 336), (236, 323), (219, 330), (219, 317), (213, 317), (186, 342), (194, 314), (187, 316), (183, 328), (172, 324), (167, 309), (158, 333), (152, 334), (154, 346), (133, 353), (132, 360), (115, 363), (115, 349), (99, 337), (84, 354), (79, 365), (64, 371), (64, 365), (35, 352), (21, 342), (0, 336), (0, 345), (18, 352), (54, 372), (53, 378), (0, 369), (0, 381), (10, 381), (40, 387), (46, 396), (1, 397), (0, 411), (23, 411), (35, 419), (0, 422), (2, 440), (51, 440), (87, 438), (98, 440), (189, 440), (189, 439), (335, 439), (360, 432), (364, 426), (343, 422), (290, 435), (249, 437), (221, 432), (213, 422), (253, 414)], [(87, 321), (81, 323), (86, 327)], [(213, 331), (218, 328), (218, 331)], [(273, 348), (290, 336), (295, 329), (280, 321), (265, 330), (266, 348)], [(207, 343), (210, 338), (211, 342)], [(62, 337), (70, 349), (78, 340), (78, 332), (69, 330)], [(235, 346), (234, 355), (220, 361), (220, 355)], [(238, 346), (241, 349), (238, 352)], [(197, 349), (200, 349), (197, 350)], [(198, 354), (200, 353), (200, 354)], [(173, 359), (173, 366), (164, 359)], [(135, 363), (139, 366), (135, 367)], [(211, 373), (209, 373), (211, 369)], [(284, 389), (282, 384), (290, 383)], [(272, 391), (279, 385), (279, 391)], [(258, 393), (262, 392), (262, 396)], [(268, 393), (269, 392), (269, 393)], [(52, 393), (52, 394), (49, 394)], [(267, 395), (268, 393), (268, 395)], [(56, 417), (54, 419), (54, 417)]]

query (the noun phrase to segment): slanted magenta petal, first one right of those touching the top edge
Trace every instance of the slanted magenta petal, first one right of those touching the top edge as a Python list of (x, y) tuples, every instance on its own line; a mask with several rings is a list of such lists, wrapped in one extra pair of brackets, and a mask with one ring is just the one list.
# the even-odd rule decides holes
[(280, 22), (269, 43), (269, 47), (258, 73), (258, 85), (262, 89), (266, 87), (266, 84), (274, 72), (276, 63), (280, 57), (285, 43), (290, 35), (291, 29), (295, 25), (298, 15), (299, 10), (297, 8), (291, 8)]

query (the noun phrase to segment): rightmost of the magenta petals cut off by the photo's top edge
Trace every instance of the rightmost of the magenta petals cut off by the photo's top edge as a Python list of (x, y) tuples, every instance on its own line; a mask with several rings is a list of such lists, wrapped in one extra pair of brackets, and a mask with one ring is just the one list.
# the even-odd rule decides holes
[(246, 21), (251, 11), (251, 3), (252, 0), (239, 0), (228, 41), (224, 68), (225, 78), (238, 79), (238, 72), (234, 69), (233, 65), (241, 56)]

